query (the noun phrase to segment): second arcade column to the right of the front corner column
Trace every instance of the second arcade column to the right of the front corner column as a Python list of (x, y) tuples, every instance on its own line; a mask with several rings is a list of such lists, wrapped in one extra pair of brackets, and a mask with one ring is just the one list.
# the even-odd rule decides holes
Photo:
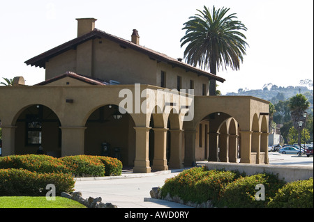
[(183, 168), (181, 150), (182, 150), (182, 129), (170, 129), (170, 168)]

